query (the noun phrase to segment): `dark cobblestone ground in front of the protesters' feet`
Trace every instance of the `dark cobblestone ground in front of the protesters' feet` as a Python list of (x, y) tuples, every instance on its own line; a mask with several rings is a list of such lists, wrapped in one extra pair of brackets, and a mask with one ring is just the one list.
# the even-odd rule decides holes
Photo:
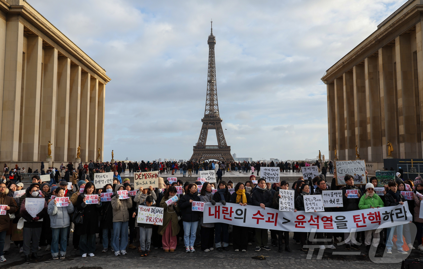
[[(72, 237), (72, 234), (71, 234)], [(310, 259), (310, 253), (304, 253), (299, 250), (300, 245), (295, 244), (292, 240), (292, 233), (290, 236), (290, 247), (292, 253), (277, 252), (277, 247), (271, 247), (270, 251), (261, 250), (254, 251), (254, 243), (248, 246), (247, 253), (235, 253), (230, 247), (229, 251), (218, 252), (216, 250), (205, 253), (196, 248), (195, 253), (185, 253), (183, 242), (177, 247), (174, 253), (165, 253), (161, 249), (152, 249), (148, 257), (141, 257), (137, 250), (127, 249), (128, 255), (121, 255), (116, 257), (109, 248), (107, 253), (102, 253), (102, 246), (97, 238), (97, 249), (95, 257), (82, 258), (79, 255), (79, 250), (74, 250), (71, 238), (68, 246), (66, 259), (53, 261), (51, 253), (44, 251), (45, 246), (38, 252), (42, 255), (39, 260), (30, 260), (25, 262), (24, 256), (19, 253), (19, 249), (11, 246), (8, 255), (5, 255), (7, 261), (0, 264), (1, 268), (91, 268), (91, 269), (115, 269), (115, 268), (149, 268), (149, 269), (163, 269), (163, 268), (200, 268), (200, 269), (216, 269), (216, 268), (322, 268), (322, 269), (355, 269), (355, 268), (401, 268), (401, 260), (406, 258), (406, 255), (396, 255), (396, 250), (393, 250), (393, 255), (397, 258), (394, 263), (378, 263), (384, 258), (373, 258), (360, 255), (360, 250), (364, 251), (365, 246), (362, 244), (360, 250), (345, 250), (344, 246), (337, 246), (336, 250), (324, 250), (321, 258), (318, 258), (319, 247), (313, 251)], [(269, 234), (270, 240), (270, 234)], [(321, 250), (320, 250), (321, 251)], [(352, 255), (355, 254), (355, 255)], [(257, 255), (264, 255), (265, 260), (257, 260), (252, 257)], [(382, 257), (383, 253), (376, 253), (376, 257)], [(385, 254), (385, 257), (387, 254)], [(392, 256), (389, 256), (392, 257)], [(423, 252), (420, 250), (413, 250), (408, 258), (423, 258)], [(376, 262), (374, 262), (376, 261)]]

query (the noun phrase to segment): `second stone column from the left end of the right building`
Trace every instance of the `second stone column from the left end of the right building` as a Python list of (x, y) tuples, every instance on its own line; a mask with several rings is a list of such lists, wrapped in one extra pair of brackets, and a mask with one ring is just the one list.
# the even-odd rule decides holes
[[(343, 78), (335, 79), (336, 150), (339, 160), (345, 160), (345, 118), (343, 102)], [(354, 158), (355, 159), (355, 158)]]

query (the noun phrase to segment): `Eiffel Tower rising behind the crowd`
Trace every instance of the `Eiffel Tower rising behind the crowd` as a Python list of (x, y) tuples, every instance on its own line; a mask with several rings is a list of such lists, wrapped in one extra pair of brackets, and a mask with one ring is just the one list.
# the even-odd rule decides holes
[[(206, 109), (204, 118), (201, 119), (201, 127), (198, 143), (194, 146), (194, 153), (191, 156), (192, 161), (202, 162), (207, 159), (216, 159), (223, 162), (233, 161), (231, 155), (231, 146), (226, 145), (225, 135), (223, 135), (222, 119), (219, 115), (217, 105), (216, 88), (216, 64), (214, 62), (214, 45), (216, 45), (215, 36), (213, 36), (213, 22), (211, 22), (210, 36), (207, 40), (209, 44), (209, 69), (207, 72), (207, 95)], [(209, 130), (216, 130), (217, 145), (206, 145), (207, 133)]]

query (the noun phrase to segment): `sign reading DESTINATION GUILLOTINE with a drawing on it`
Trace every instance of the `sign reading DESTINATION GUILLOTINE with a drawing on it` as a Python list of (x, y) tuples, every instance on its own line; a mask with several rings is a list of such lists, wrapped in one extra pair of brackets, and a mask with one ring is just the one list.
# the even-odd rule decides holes
[(354, 179), (354, 185), (366, 184), (366, 164), (364, 160), (335, 161), (334, 177), (336, 185), (346, 185), (344, 177), (349, 174)]

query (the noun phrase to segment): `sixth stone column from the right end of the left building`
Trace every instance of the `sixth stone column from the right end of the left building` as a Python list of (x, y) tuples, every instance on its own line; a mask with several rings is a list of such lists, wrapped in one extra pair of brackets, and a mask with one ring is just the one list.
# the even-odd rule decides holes
[(47, 157), (47, 144), (53, 143), (52, 156), (54, 156), (55, 130), (56, 130), (56, 99), (57, 99), (57, 54), (55, 48), (44, 48), (44, 77), (43, 90), (41, 91), (40, 113), (40, 145), (38, 159)]

